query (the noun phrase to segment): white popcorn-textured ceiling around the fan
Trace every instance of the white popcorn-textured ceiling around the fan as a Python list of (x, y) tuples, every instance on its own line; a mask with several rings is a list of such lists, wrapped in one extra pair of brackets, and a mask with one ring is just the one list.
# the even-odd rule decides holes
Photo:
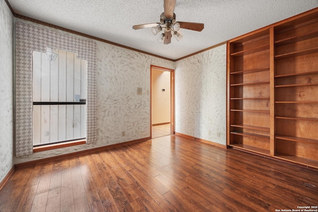
[(163, 45), (151, 28), (163, 0), (8, 0), (15, 13), (172, 60), (318, 7), (318, 0), (176, 0), (176, 21), (204, 23), (201, 32), (181, 29), (183, 39)]

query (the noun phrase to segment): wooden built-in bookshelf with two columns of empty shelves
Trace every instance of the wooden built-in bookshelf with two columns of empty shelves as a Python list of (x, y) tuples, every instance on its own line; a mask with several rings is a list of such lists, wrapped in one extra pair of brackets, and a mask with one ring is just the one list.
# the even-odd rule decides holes
[(227, 51), (227, 145), (318, 168), (318, 8)]

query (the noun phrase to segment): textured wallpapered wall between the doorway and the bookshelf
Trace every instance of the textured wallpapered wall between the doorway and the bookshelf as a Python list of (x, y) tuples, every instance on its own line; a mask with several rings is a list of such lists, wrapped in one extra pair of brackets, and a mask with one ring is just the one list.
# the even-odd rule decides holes
[(175, 108), (175, 132), (226, 144), (226, 44), (176, 62)]

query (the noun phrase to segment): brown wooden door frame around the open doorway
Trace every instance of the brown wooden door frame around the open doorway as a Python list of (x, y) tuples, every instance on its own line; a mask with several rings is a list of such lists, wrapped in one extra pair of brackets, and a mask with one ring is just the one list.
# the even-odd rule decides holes
[(168, 69), (160, 66), (150, 65), (150, 138), (153, 138), (153, 69), (170, 72), (170, 135), (175, 133), (174, 118), (174, 69)]

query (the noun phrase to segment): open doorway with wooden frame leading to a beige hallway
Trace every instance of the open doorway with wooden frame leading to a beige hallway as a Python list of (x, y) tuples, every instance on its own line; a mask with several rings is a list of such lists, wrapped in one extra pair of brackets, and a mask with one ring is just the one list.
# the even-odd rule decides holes
[(174, 134), (174, 70), (150, 66), (150, 137)]

